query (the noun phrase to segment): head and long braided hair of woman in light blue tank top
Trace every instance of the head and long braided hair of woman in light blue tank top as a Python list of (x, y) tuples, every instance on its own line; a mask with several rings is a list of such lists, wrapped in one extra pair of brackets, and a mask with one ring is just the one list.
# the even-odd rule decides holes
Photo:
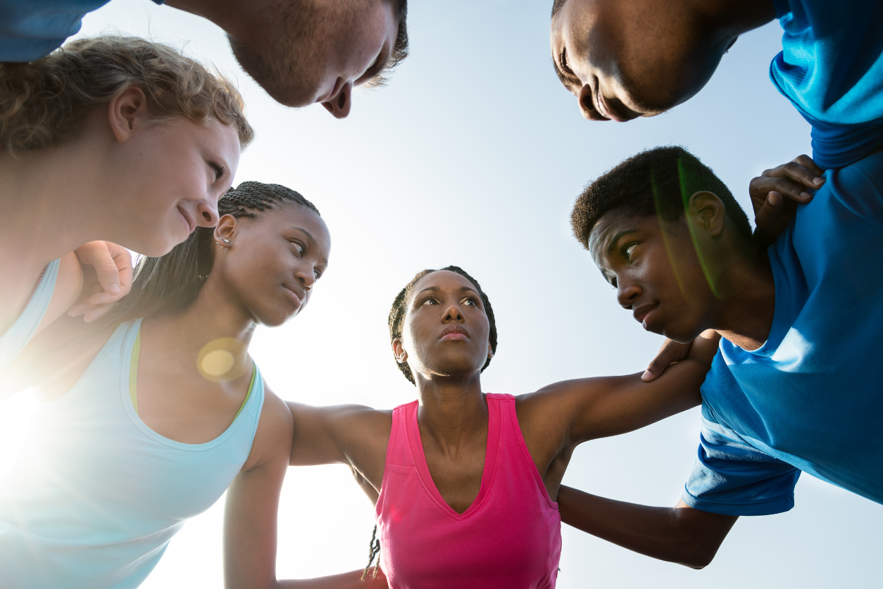
[(200, 297), (256, 324), (281, 325), (309, 301), (328, 267), (319, 210), (290, 188), (243, 182), (218, 201), (221, 220), (160, 258), (143, 257), (110, 322), (177, 313)]

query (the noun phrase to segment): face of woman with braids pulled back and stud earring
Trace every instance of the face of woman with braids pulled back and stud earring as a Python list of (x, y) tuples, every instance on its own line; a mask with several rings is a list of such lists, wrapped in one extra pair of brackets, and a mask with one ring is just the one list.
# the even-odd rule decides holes
[(212, 244), (209, 280), (261, 325), (282, 325), (298, 314), (328, 268), (328, 227), (321, 216), (294, 203), (274, 204), (253, 219), (224, 215), (215, 238), (224, 246)]

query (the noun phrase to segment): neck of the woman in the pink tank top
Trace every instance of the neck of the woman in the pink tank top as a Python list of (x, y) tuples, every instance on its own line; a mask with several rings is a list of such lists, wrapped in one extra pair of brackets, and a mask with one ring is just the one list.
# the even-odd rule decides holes
[(442, 449), (456, 450), (462, 443), (487, 429), (487, 403), (481, 392), (479, 373), (467, 376), (417, 374), (422, 433)]

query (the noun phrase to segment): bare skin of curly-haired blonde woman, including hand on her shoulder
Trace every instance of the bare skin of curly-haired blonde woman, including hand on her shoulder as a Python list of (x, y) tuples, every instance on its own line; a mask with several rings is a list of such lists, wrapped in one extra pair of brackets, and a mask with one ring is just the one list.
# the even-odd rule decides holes
[[(11, 223), (0, 235), (6, 253), (0, 256), (0, 333), (26, 306), (43, 268), (64, 256), (57, 300), (44, 323), (81, 294), (86, 298), (75, 313), (91, 321), (96, 313), (90, 312), (106, 310), (131, 283), (131, 259), (113, 244), (158, 256), (196, 226), (214, 226), (239, 151), (236, 130), (215, 119), (157, 123), (134, 87), (93, 109), (70, 140), (19, 157), (0, 150), (0, 205), (11, 218), (30, 220)], [(112, 243), (89, 243), (96, 240)], [(74, 250), (77, 255), (68, 255)], [(106, 296), (87, 300), (95, 292), (81, 291), (78, 264), (94, 270), (87, 283), (101, 284)]]

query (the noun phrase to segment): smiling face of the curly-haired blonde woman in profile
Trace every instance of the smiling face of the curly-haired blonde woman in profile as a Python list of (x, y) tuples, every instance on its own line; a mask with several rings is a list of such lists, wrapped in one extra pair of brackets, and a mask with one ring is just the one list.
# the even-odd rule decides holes
[[(239, 165), (239, 138), (230, 125), (211, 119), (196, 125), (184, 117), (140, 125), (114, 154), (120, 175), (114, 195), (124, 210), (125, 242), (149, 256), (169, 253), (201, 227), (217, 224), (217, 202)], [(126, 211), (137, 211), (127, 215)]]

